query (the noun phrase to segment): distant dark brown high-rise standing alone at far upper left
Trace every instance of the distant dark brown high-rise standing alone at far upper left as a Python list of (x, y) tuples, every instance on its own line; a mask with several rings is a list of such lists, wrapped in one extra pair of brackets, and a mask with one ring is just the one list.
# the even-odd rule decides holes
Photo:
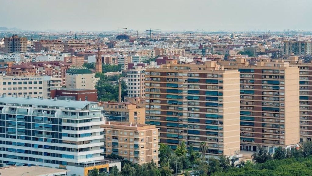
[(27, 38), (17, 35), (5, 37), (4, 45), (5, 53), (25, 53), (27, 51)]

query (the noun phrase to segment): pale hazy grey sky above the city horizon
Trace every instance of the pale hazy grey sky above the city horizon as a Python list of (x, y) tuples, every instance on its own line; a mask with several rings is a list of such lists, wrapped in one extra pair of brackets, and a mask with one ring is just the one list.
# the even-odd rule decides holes
[(312, 0), (0, 0), (23, 30), (312, 31)]

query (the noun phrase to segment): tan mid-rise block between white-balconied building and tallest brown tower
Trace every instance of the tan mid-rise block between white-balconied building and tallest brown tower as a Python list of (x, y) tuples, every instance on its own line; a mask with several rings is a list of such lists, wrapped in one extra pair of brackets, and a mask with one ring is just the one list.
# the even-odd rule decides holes
[(158, 128), (126, 122), (106, 122), (104, 155), (116, 154), (138, 164), (152, 160), (158, 164)]

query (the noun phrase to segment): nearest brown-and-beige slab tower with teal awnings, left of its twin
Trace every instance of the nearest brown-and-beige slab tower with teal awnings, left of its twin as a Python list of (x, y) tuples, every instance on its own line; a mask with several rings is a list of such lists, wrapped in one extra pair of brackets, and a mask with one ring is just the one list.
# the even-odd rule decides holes
[(175, 149), (185, 141), (195, 150), (206, 142), (210, 157), (239, 150), (237, 70), (224, 70), (214, 61), (168, 60), (145, 74), (146, 123), (160, 128), (160, 142)]

